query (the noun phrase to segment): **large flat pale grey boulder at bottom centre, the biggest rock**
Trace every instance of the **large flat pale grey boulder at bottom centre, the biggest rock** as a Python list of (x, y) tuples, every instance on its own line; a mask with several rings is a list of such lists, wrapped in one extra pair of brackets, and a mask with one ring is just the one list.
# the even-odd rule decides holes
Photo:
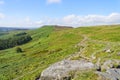
[(45, 69), (40, 80), (71, 80), (72, 72), (93, 68), (94, 64), (85, 60), (63, 60)]

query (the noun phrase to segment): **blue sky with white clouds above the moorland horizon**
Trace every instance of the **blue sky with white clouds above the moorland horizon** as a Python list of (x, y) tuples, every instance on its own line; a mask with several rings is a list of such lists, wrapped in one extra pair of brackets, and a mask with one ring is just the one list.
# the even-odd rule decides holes
[(120, 0), (0, 0), (0, 27), (120, 24)]

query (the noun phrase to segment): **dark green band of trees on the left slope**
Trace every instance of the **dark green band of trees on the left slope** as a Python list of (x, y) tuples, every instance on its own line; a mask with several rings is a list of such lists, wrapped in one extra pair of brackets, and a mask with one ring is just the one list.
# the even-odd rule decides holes
[(32, 40), (31, 36), (25, 33), (20, 33), (7, 39), (0, 39), (0, 50), (22, 45), (29, 42), (30, 40)]

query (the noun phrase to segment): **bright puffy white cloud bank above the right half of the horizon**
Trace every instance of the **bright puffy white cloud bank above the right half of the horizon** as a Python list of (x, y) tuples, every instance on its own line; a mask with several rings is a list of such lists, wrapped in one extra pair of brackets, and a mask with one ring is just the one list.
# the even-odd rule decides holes
[(70, 26), (90, 26), (105, 24), (120, 24), (120, 13), (111, 13), (110, 15), (68, 15), (62, 19), (64, 25)]

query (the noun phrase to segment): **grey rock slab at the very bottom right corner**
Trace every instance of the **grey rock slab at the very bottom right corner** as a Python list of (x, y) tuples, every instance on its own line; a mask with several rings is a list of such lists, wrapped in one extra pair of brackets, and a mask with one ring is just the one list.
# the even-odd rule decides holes
[(97, 72), (102, 80), (120, 80), (120, 69), (108, 69), (106, 72)]

